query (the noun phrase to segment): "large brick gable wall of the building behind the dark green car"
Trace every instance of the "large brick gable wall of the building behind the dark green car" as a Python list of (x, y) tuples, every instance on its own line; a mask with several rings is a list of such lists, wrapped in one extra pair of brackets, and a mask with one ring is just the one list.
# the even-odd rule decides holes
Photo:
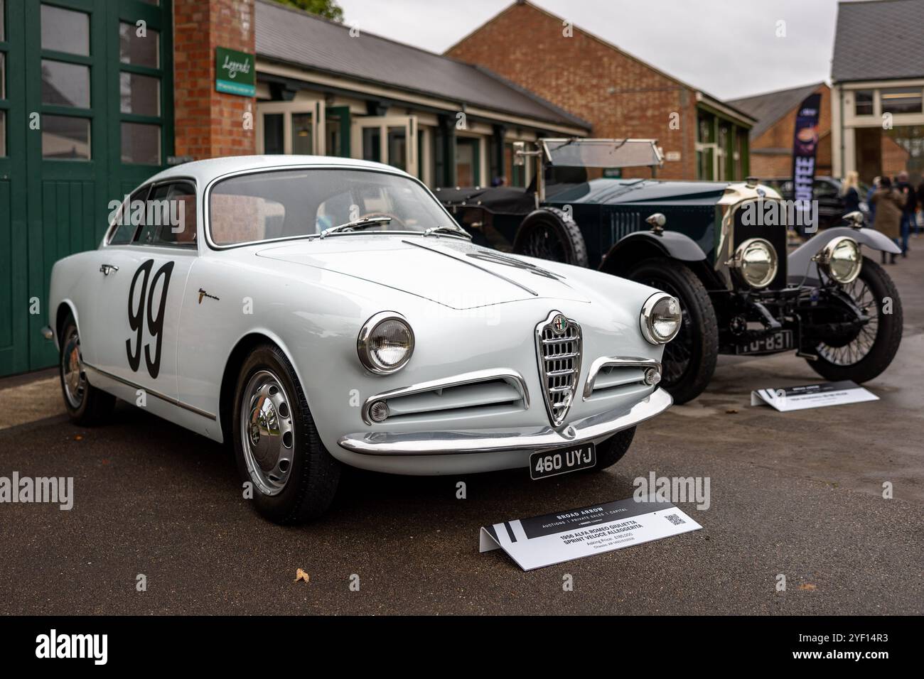
[[(504, 13), (449, 50), (449, 56), (490, 68), (578, 115), (593, 126), (592, 136), (658, 139), (665, 162), (658, 176), (696, 176), (695, 91), (612, 45), (573, 29), (563, 35), (561, 18), (529, 4)], [(671, 114), (678, 129), (671, 129)], [(649, 176), (647, 169), (626, 176)]]

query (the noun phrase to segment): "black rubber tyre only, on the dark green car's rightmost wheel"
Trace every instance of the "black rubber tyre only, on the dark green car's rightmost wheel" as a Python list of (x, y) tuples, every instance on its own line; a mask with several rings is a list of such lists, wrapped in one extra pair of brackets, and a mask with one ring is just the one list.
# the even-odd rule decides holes
[[(860, 270), (857, 281), (862, 281), (869, 287), (872, 300), (876, 303), (876, 313), (879, 326), (876, 338), (869, 353), (857, 363), (851, 365), (838, 365), (819, 355), (818, 360), (808, 360), (808, 365), (825, 380), (840, 382), (852, 380), (853, 382), (869, 382), (881, 375), (889, 367), (898, 346), (902, 343), (902, 301), (898, 297), (898, 289), (892, 277), (869, 257), (863, 258), (863, 268)], [(892, 298), (892, 313), (883, 313), (882, 300)]]

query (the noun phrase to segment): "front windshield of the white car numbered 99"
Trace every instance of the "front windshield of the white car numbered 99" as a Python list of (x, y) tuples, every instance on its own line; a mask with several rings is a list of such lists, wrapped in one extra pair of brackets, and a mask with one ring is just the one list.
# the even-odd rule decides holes
[(363, 224), (363, 233), (456, 226), (416, 181), (372, 170), (257, 172), (225, 179), (209, 196), (209, 228), (220, 246), (313, 236), (373, 217), (390, 219)]

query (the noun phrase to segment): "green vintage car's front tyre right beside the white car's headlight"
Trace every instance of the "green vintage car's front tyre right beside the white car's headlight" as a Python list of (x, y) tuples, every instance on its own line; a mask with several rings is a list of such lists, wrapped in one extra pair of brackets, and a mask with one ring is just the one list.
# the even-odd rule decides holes
[[(719, 358), (719, 323), (706, 286), (687, 266), (663, 257), (638, 262), (626, 278), (680, 300), (683, 322), (677, 336), (664, 347), (661, 386), (677, 405), (693, 400), (706, 389)], [(679, 374), (672, 374), (672, 367), (685, 356), (687, 366)]]

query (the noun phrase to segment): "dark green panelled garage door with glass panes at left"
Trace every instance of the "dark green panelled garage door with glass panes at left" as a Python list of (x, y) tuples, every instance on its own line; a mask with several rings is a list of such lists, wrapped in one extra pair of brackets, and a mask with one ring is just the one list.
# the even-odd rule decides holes
[[(55, 363), (55, 261), (173, 152), (170, 0), (0, 0), (0, 375)], [(5, 83), (5, 86), (4, 86)]]

